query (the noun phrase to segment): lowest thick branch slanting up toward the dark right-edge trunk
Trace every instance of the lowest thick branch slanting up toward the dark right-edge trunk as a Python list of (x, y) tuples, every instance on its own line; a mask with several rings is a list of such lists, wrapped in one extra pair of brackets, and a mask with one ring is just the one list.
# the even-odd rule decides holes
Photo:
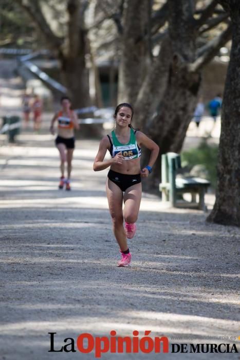
[(198, 50), (198, 58), (189, 65), (190, 71), (197, 71), (204, 67), (217, 54), (220, 47), (224, 46), (232, 36), (232, 26), (229, 25), (225, 31)]

